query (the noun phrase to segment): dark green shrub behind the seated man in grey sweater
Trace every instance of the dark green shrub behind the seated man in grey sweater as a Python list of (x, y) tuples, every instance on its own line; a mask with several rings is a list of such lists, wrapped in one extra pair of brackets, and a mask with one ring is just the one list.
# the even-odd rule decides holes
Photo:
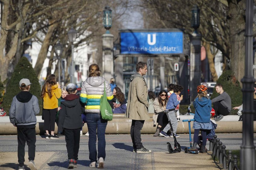
[[(216, 83), (220, 83), (223, 86), (223, 90), (230, 96), (232, 106), (240, 106), (242, 104), (242, 88), (231, 70), (224, 71)], [(214, 89), (211, 99), (218, 95)]]

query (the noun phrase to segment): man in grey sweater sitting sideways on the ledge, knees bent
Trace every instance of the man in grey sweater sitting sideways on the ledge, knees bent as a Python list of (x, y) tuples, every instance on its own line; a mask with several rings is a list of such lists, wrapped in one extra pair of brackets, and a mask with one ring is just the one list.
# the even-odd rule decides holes
[(231, 111), (231, 98), (230, 96), (223, 90), (221, 84), (215, 85), (216, 92), (220, 95), (212, 99), (213, 108), (215, 110), (215, 121), (220, 121), (223, 116), (229, 115)]

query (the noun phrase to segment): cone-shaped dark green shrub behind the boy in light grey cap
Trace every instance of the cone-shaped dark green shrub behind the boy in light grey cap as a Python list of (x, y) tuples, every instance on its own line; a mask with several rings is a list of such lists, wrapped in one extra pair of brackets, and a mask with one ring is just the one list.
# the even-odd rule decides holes
[(7, 114), (9, 114), (10, 106), (13, 97), (21, 90), (19, 89), (19, 81), (23, 78), (29, 79), (32, 85), (30, 86), (30, 93), (38, 98), (40, 114), (42, 108), (42, 99), (40, 99), (41, 86), (35, 75), (35, 71), (26, 57), (22, 57), (18, 64), (15, 66), (11, 79), (6, 86), (6, 93), (3, 99), (3, 107)]

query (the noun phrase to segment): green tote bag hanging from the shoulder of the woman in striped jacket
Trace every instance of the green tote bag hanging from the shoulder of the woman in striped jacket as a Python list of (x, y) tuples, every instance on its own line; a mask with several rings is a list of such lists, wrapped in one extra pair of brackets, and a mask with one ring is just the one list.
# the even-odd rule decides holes
[(102, 119), (105, 119), (107, 121), (112, 121), (113, 112), (112, 112), (112, 107), (107, 101), (105, 82), (104, 82), (104, 94), (103, 96), (101, 96), (101, 101), (100, 101), (100, 111), (101, 111)]

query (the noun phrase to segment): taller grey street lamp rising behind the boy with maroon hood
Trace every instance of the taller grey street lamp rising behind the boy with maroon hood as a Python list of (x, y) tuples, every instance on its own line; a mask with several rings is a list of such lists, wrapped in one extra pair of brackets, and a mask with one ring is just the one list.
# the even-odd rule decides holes
[(72, 53), (72, 61), (71, 61), (71, 70), (70, 75), (71, 75), (71, 79), (70, 82), (74, 83), (74, 74), (75, 74), (75, 65), (74, 65), (74, 41), (76, 40), (76, 30), (73, 28), (73, 26), (71, 27), (71, 29), (68, 31), (68, 39), (71, 42), (71, 53)]

